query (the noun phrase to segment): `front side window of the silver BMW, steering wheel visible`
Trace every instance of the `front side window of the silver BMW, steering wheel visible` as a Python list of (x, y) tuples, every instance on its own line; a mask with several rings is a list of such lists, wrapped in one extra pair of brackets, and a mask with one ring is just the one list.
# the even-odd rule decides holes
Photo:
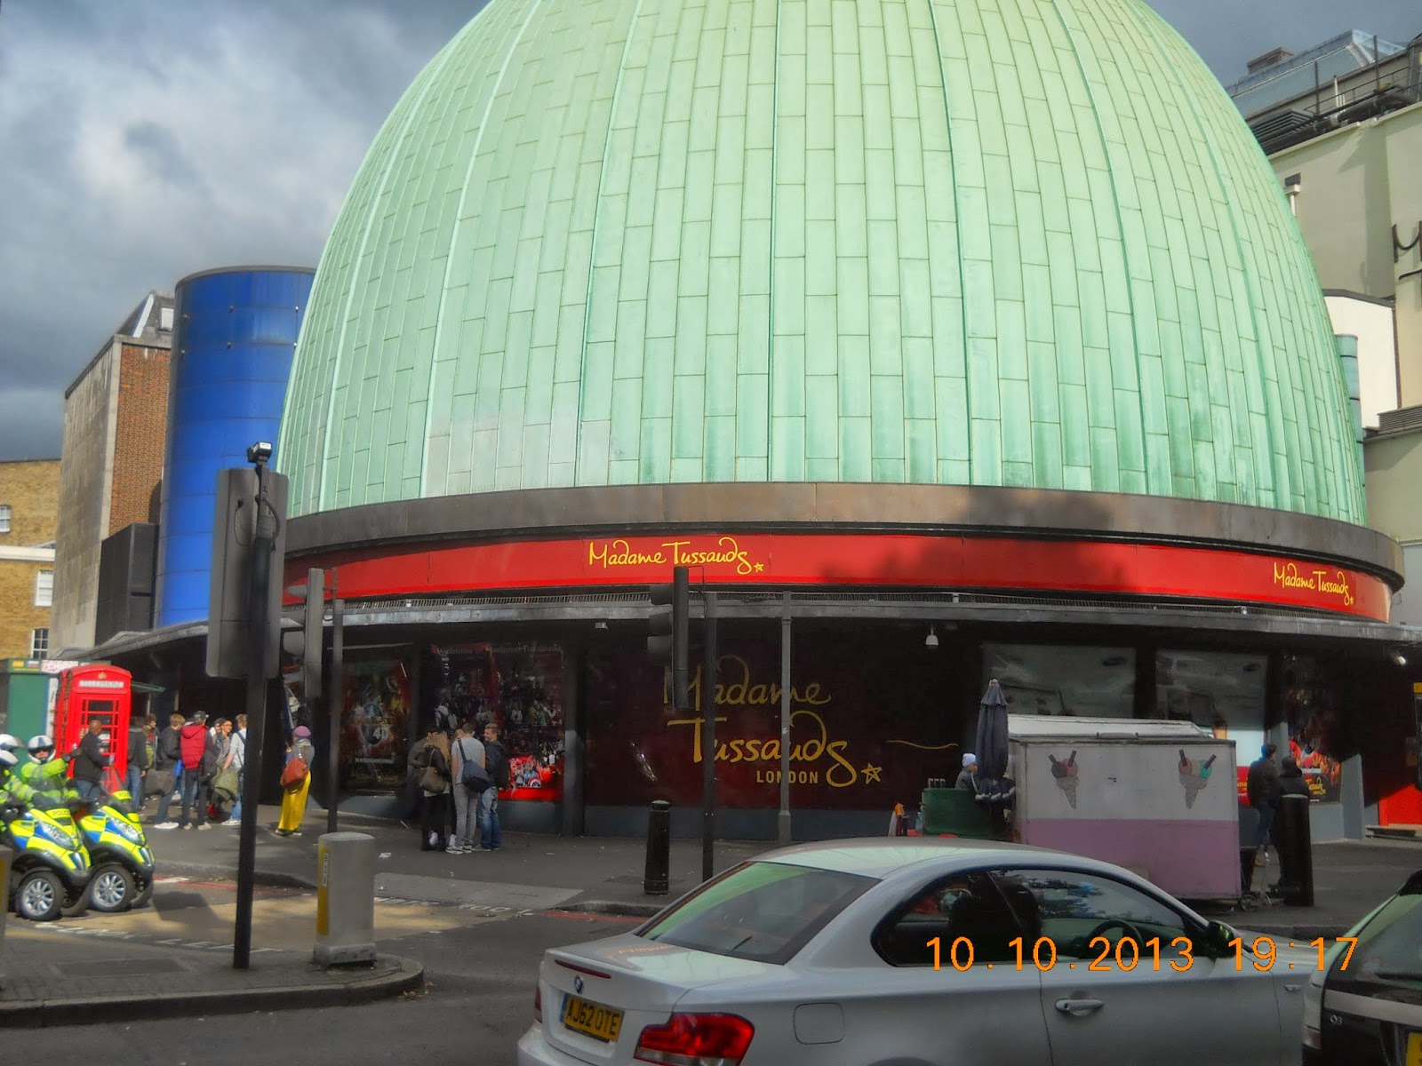
[[(1197, 934), (1183, 914), (1111, 877), (1071, 870), (1000, 870), (993, 880), (1031, 942), (1051, 942), (1058, 958), (1130, 969), (1159, 954), (1162, 965), (1197, 958)], [(1129, 945), (1122, 947), (1122, 941)], [(1047, 947), (1041, 952), (1047, 952)]]

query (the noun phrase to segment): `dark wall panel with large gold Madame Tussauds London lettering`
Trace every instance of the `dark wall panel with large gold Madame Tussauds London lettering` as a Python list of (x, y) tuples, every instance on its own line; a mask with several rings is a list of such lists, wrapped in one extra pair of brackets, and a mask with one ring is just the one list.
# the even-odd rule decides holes
[[(930, 776), (956, 773), (957, 739), (977, 705), (946, 696), (944, 659), (917, 641), (818, 632), (792, 645), (791, 804), (882, 809), (916, 804)], [(715, 678), (717, 803), (778, 807), (779, 641), (722, 641)], [(587, 802), (701, 803), (701, 650), (691, 650), (691, 708), (670, 704), (664, 669), (646, 652), (592, 657), (586, 691)]]

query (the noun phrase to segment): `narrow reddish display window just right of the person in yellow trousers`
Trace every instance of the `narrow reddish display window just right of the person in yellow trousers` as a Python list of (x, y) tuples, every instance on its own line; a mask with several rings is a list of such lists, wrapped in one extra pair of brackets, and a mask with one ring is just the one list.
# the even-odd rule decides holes
[(341, 779), (398, 787), (405, 779), (410, 671), (404, 659), (347, 659)]

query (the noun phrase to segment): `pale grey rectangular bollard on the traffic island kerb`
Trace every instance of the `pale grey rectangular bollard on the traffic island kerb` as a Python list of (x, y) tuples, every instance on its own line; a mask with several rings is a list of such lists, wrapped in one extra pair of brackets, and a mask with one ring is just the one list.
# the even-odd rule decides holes
[(375, 837), (324, 833), (316, 850), (316, 949), (321, 967), (375, 961)]

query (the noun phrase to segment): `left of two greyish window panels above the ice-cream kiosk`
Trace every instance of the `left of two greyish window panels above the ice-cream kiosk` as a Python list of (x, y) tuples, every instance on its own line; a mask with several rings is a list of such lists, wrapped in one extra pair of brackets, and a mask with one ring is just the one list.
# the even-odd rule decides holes
[(1130, 648), (984, 644), (983, 677), (1001, 682), (1014, 715), (1135, 714), (1136, 654)]

